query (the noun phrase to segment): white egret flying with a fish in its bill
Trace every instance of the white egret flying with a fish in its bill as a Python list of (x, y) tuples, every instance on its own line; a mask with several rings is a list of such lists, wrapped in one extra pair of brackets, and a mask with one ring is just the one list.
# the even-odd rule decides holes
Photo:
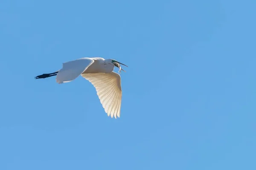
[[(35, 79), (44, 79), (57, 76), (56, 82), (59, 84), (71, 82), (81, 75), (96, 88), (99, 100), (108, 116), (120, 117), (122, 88), (121, 77), (113, 72), (114, 67), (119, 71), (124, 71), (115, 59), (103, 59), (100, 57), (80, 58), (62, 64), (62, 68), (54, 73), (41, 74)], [(124, 64), (122, 64), (124, 65)], [(127, 65), (125, 65), (128, 67)]]

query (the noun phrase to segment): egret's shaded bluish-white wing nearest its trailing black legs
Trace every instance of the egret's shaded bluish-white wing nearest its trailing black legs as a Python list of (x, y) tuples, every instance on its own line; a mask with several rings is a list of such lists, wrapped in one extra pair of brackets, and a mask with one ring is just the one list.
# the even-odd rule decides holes
[(61, 70), (57, 73), (56, 82), (60, 84), (76, 79), (76, 77), (79, 77), (93, 62), (93, 59), (87, 57), (64, 62)]

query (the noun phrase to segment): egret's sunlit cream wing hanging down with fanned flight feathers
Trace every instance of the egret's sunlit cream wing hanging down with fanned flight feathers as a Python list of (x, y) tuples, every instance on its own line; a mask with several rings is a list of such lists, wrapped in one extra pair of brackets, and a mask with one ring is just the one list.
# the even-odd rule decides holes
[(81, 74), (96, 88), (99, 100), (108, 116), (120, 117), (122, 88), (121, 77), (115, 72)]

